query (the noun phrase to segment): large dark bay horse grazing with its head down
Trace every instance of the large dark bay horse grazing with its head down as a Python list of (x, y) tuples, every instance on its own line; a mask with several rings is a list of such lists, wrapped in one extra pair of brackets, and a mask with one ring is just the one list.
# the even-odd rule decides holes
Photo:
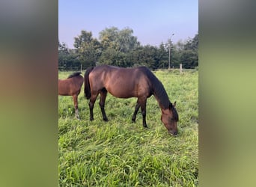
[(147, 98), (154, 95), (162, 111), (162, 123), (171, 135), (177, 135), (179, 117), (175, 109), (176, 102), (174, 104), (170, 102), (162, 83), (147, 67), (121, 68), (102, 65), (88, 68), (85, 72), (85, 96), (87, 99), (91, 98), (90, 120), (94, 120), (94, 102), (99, 93), (103, 120), (108, 120), (104, 109), (107, 92), (119, 98), (137, 97), (132, 121), (135, 122), (138, 109), (141, 107), (144, 127), (147, 127)]

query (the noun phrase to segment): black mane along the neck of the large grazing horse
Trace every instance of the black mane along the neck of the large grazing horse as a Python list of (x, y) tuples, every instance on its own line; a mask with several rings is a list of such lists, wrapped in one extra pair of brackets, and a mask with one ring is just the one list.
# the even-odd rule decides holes
[(147, 69), (147, 67), (140, 68), (147, 75), (147, 78), (150, 80), (153, 88), (153, 95), (156, 96), (156, 98), (159, 100), (159, 105), (164, 109), (169, 108), (171, 102), (168, 98), (165, 88), (162, 85), (162, 82), (160, 82), (159, 79), (157, 79), (156, 76), (150, 70)]

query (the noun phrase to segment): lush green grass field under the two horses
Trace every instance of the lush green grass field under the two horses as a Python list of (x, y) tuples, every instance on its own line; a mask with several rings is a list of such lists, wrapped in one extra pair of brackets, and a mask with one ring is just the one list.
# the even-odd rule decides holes
[[(70, 73), (59, 72), (59, 78)], [(58, 96), (59, 186), (198, 186), (198, 71), (154, 73), (171, 102), (177, 101), (176, 137), (161, 122), (154, 96), (147, 99), (148, 129), (142, 126), (141, 111), (132, 123), (136, 98), (108, 93), (109, 122), (104, 122), (99, 100), (94, 121), (89, 120), (83, 87), (81, 120), (76, 120), (72, 97)]]

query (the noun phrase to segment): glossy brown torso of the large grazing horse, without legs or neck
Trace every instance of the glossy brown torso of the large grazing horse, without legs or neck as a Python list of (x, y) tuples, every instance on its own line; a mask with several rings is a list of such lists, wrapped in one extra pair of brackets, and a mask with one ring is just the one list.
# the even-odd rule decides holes
[(142, 71), (144, 68), (95, 67), (89, 75), (91, 90), (97, 92), (106, 88), (113, 96), (120, 98), (150, 96), (150, 84)]

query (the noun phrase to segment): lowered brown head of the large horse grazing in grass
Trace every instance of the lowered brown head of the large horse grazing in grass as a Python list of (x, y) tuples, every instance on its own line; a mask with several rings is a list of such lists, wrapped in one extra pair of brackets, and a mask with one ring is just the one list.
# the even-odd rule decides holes
[(171, 135), (177, 135), (177, 121), (179, 120), (179, 115), (175, 109), (176, 101), (174, 104), (169, 104), (169, 108), (162, 108), (162, 123), (165, 124), (166, 129)]

